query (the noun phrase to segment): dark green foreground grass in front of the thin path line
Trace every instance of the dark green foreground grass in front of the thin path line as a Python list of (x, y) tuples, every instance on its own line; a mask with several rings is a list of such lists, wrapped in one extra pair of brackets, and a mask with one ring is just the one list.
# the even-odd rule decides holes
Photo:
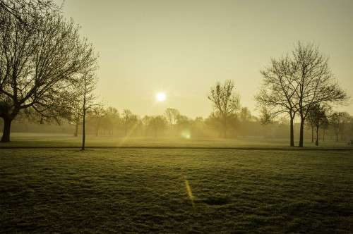
[(353, 155), (0, 149), (0, 230), (352, 233)]

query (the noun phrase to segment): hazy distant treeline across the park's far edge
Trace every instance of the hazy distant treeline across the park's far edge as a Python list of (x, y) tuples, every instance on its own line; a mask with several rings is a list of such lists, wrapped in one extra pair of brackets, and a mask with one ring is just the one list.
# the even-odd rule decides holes
[[(336, 112), (337, 114), (337, 112)], [(319, 132), (321, 140), (347, 141), (353, 139), (353, 116), (340, 113), (341, 118), (330, 118), (327, 125)], [(237, 137), (270, 137), (287, 138), (289, 121), (282, 118), (272, 124), (263, 124), (261, 119), (253, 116), (248, 108), (243, 107), (228, 119), (227, 138)], [(40, 123), (20, 116), (13, 123), (13, 132), (25, 133), (65, 133), (78, 136), (81, 134), (81, 123), (56, 122)], [(299, 123), (294, 124), (299, 130)], [(140, 117), (124, 109), (118, 111), (113, 107), (100, 108), (88, 114), (86, 133), (94, 136), (115, 137), (224, 137), (222, 122), (214, 113), (208, 118), (189, 118), (177, 109), (167, 109), (163, 115)], [(305, 128), (306, 139), (313, 139), (315, 133), (308, 123)], [(315, 136), (316, 137), (316, 136)]]

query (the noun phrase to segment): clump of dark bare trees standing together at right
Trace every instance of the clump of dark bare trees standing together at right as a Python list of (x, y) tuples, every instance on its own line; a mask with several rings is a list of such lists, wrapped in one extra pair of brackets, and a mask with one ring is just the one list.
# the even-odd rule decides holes
[[(323, 111), (332, 104), (342, 104), (348, 97), (340, 88), (323, 56), (314, 44), (298, 42), (292, 54), (273, 58), (261, 70), (263, 85), (256, 95), (262, 107), (263, 123), (278, 116), (290, 122), (290, 146), (294, 146), (294, 120), (299, 118), (299, 147), (304, 146), (304, 125), (308, 118), (321, 125)], [(310, 116), (310, 117), (309, 117)], [(318, 128), (317, 128), (318, 131)]]

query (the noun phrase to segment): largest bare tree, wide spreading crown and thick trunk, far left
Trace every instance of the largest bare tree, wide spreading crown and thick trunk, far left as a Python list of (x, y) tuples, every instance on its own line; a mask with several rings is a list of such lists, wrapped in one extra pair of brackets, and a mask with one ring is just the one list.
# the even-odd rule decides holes
[(22, 112), (41, 118), (67, 117), (80, 74), (97, 56), (78, 26), (53, 13), (32, 18), (27, 27), (0, 8), (1, 142), (10, 140), (11, 122)]

